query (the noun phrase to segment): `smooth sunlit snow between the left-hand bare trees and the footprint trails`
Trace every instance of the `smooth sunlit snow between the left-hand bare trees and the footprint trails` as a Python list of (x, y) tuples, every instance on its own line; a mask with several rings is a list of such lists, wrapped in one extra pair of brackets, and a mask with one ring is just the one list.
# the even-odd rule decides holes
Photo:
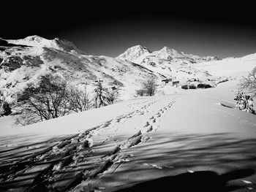
[[(1, 136), (18, 135), (18, 134), (47, 134), (47, 135), (64, 135), (78, 134), (81, 131), (86, 131), (94, 126), (99, 126), (105, 121), (116, 118), (117, 116), (127, 114), (134, 111), (129, 104), (140, 102), (139, 99), (122, 101), (118, 104), (108, 105), (94, 110), (74, 113), (64, 117), (46, 120), (40, 123), (34, 123), (29, 126), (15, 127), (11, 126), (14, 123), (12, 117), (0, 118)], [(143, 101), (151, 100), (150, 97), (144, 97)], [(143, 103), (138, 104), (138, 107), (143, 106)]]

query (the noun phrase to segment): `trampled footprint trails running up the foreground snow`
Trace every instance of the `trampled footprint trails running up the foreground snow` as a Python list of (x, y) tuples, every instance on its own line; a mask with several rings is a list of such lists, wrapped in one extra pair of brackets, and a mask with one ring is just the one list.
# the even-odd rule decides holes
[[(92, 177), (96, 177), (98, 174), (107, 171), (110, 169), (110, 166), (114, 164), (115, 161), (118, 162), (117, 155), (120, 154), (122, 149), (126, 149), (129, 147), (135, 147), (136, 145), (140, 145), (142, 142), (147, 142), (148, 139), (151, 139), (150, 135), (152, 131), (157, 131), (159, 128), (159, 120), (162, 114), (168, 110), (168, 107), (171, 107), (173, 105), (173, 102), (171, 102), (169, 105), (163, 107), (157, 114), (151, 114), (148, 112), (151, 112), (148, 110), (148, 107), (151, 107), (152, 104), (155, 104), (158, 100), (157, 99), (151, 99), (151, 101), (146, 101), (143, 107), (140, 107), (138, 110), (138, 107), (135, 107), (135, 104), (130, 105), (129, 107), (132, 107), (132, 109), (136, 109), (133, 112), (128, 113), (127, 115), (121, 115), (116, 118), (113, 118), (113, 120), (109, 120), (105, 123), (101, 123), (99, 126), (96, 126), (92, 128), (89, 131), (82, 132), (77, 135), (73, 135), (72, 137), (61, 139), (59, 142), (54, 142), (55, 145), (51, 144), (51, 146), (45, 150), (40, 151), (39, 153), (35, 153), (31, 155), (29, 158), (23, 158), (21, 159), (18, 164), (15, 164), (15, 166), (12, 168), (12, 170), (9, 171), (9, 169), (4, 172), (4, 180), (15, 180), (16, 175), (13, 176), (13, 174), (17, 172), (26, 172), (29, 168), (34, 168), (35, 164), (37, 162), (41, 163), (44, 162), (44, 164), (50, 164), (50, 166), (43, 168), (42, 172), (40, 172), (39, 177), (35, 180), (33, 185), (38, 188), (39, 186), (42, 188), (44, 187), (53, 187), (54, 182), (49, 182), (49, 178), (52, 180), (57, 180), (58, 183), (62, 179), (65, 179), (66, 176), (74, 176), (74, 172), (69, 172), (71, 169), (78, 169), (75, 170), (78, 177), (75, 177), (75, 182), (78, 182), (80, 180), (86, 180)], [(141, 102), (139, 103), (141, 106)], [(112, 153), (108, 153), (105, 155), (105, 158), (99, 158), (96, 160), (97, 166), (90, 166), (90, 161), (95, 161), (95, 157), (98, 154), (94, 153), (94, 150), (97, 150), (98, 145), (102, 145), (102, 141), (106, 142), (108, 140), (111, 140), (111, 142), (115, 142), (115, 138), (111, 139), (110, 135), (108, 135), (108, 131), (114, 132), (119, 131), (119, 128), (121, 128), (121, 124), (128, 121), (129, 118), (133, 118), (135, 115), (148, 115), (150, 118), (147, 119), (145, 126), (139, 126), (138, 133), (133, 135), (132, 137), (125, 138), (125, 139), (118, 139), (118, 147), (113, 148)], [(99, 138), (97, 135), (99, 135)], [(102, 135), (101, 135), (102, 134)], [(97, 136), (97, 137), (96, 137)], [(98, 143), (97, 143), (98, 142)], [(115, 143), (114, 143), (115, 144)], [(105, 144), (104, 144), (105, 145)], [(91, 148), (92, 147), (92, 148)], [(95, 147), (95, 148), (94, 148)], [(94, 150), (93, 150), (94, 149)], [(103, 154), (104, 155), (104, 154)], [(98, 158), (98, 157), (97, 157)], [(91, 160), (92, 159), (92, 160)], [(119, 161), (129, 161), (127, 158), (124, 158), (123, 160)], [(81, 164), (86, 164), (86, 169), (81, 168)], [(88, 165), (87, 165), (88, 164)], [(94, 164), (95, 165), (95, 164)], [(154, 167), (156, 169), (163, 169), (162, 166), (157, 166), (156, 164), (146, 164), (148, 166)], [(29, 168), (27, 168), (27, 166)], [(87, 167), (88, 166), (88, 167)], [(81, 168), (81, 169), (80, 169)], [(86, 170), (90, 170), (90, 172), (87, 172)], [(58, 172), (58, 175), (56, 174)], [(62, 172), (62, 173), (61, 173)], [(86, 174), (84, 174), (86, 172)], [(9, 179), (7, 179), (7, 176), (11, 175)], [(86, 176), (85, 176), (86, 175)], [(83, 177), (83, 178), (82, 178)], [(72, 184), (68, 186), (72, 186)], [(76, 184), (77, 185), (77, 184)], [(29, 186), (30, 187), (30, 186)], [(55, 186), (54, 186), (55, 187)], [(57, 185), (57, 187), (59, 187)], [(61, 186), (62, 187), (62, 186)], [(29, 188), (31, 189), (31, 188)], [(61, 191), (69, 191), (69, 188), (61, 188)]]

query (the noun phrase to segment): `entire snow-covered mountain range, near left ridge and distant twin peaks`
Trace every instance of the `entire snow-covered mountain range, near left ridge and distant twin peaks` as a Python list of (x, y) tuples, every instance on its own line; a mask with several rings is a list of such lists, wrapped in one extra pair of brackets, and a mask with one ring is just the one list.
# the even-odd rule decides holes
[[(230, 61), (228, 58), (225, 61)], [(130, 47), (116, 58), (86, 55), (65, 39), (30, 36), (25, 39), (0, 39), (0, 89), (7, 99), (29, 82), (53, 73), (74, 85), (92, 87), (103, 80), (107, 87), (119, 88), (122, 94), (135, 92), (146, 77), (159, 80), (208, 77), (209, 72), (197, 69), (197, 63), (221, 61), (217, 56), (200, 57), (163, 47), (151, 51), (147, 47)], [(223, 60), (224, 61), (224, 60)]]

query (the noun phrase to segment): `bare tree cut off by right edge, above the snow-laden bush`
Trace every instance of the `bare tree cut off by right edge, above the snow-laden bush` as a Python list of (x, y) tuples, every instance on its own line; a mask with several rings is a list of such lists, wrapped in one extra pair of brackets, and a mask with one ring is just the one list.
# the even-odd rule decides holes
[(256, 67), (252, 69), (248, 77), (244, 77), (240, 83), (240, 89), (248, 92), (252, 97), (256, 96)]

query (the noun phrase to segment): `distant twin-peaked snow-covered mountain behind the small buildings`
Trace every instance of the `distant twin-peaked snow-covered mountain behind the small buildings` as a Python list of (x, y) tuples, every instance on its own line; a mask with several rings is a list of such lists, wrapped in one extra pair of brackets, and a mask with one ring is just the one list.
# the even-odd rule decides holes
[(219, 61), (217, 56), (200, 57), (189, 53), (178, 52), (169, 47), (161, 50), (151, 51), (147, 47), (136, 45), (130, 47), (121, 55), (116, 57), (119, 61), (132, 61), (140, 64), (151, 71), (158, 72), (166, 77), (173, 77), (177, 80), (193, 77), (208, 77), (208, 72), (190, 66), (203, 61)]

